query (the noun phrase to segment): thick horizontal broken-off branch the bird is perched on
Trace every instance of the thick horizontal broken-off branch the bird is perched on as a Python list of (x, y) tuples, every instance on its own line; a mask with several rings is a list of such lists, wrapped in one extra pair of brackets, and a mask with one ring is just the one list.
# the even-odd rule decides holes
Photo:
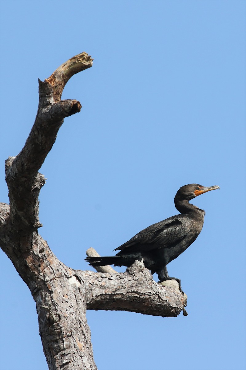
[(179, 290), (154, 282), (149, 270), (139, 261), (135, 261), (125, 273), (84, 271), (83, 274), (90, 284), (87, 309), (174, 317), (186, 306), (186, 296)]

